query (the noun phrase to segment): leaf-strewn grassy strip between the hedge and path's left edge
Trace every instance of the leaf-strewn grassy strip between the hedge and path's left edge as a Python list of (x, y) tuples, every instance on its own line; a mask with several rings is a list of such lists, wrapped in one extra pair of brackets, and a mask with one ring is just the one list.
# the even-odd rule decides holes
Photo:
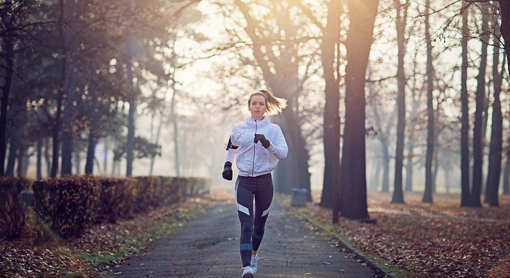
[(79, 238), (63, 240), (51, 234), (51, 240), (42, 245), (34, 244), (28, 234), (17, 241), (0, 240), (0, 278), (106, 277), (109, 265), (122, 262), (159, 236), (171, 233), (172, 228), (182, 226), (189, 220), (186, 212), (227, 199), (222, 192), (212, 192), (135, 219), (93, 225)]

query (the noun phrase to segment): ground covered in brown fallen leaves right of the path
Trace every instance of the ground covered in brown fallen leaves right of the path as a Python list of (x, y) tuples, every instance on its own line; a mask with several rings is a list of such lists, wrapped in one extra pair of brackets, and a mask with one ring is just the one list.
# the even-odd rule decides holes
[[(320, 194), (315, 194), (315, 199)], [(364, 254), (380, 257), (410, 277), (510, 277), (510, 197), (500, 206), (461, 208), (460, 195), (437, 194), (422, 204), (405, 193), (406, 204), (390, 204), (390, 193), (370, 193), (376, 224), (340, 218), (335, 229)], [(310, 204), (303, 212), (324, 223), (331, 210)]]

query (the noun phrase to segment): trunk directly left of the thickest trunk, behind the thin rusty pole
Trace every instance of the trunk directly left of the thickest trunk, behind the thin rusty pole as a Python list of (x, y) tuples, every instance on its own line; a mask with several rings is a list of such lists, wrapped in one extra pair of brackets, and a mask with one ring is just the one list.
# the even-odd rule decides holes
[[(339, 163), (340, 153), (337, 148), (340, 142), (337, 142), (336, 135), (340, 133), (336, 130), (337, 124), (340, 124), (339, 104), (340, 92), (338, 80), (335, 77), (335, 49), (338, 41), (339, 20), (337, 12), (340, 10), (340, 1), (331, 1), (328, 3), (327, 26), (323, 30), (321, 43), (322, 61), (324, 68), (325, 104), (324, 104), (324, 181), (320, 206), (323, 208), (333, 208), (334, 195), (337, 193), (335, 188), (338, 184), (334, 183), (335, 175), (340, 174)], [(337, 146), (338, 144), (338, 146)], [(338, 204), (336, 204), (338, 207)]]

